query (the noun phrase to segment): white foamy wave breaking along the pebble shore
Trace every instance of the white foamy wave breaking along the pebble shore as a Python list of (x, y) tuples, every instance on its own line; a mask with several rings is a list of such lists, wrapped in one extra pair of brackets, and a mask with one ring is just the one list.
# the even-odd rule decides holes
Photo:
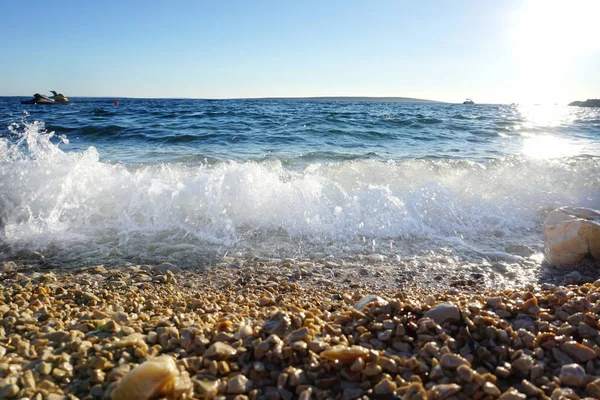
[[(73, 262), (196, 260), (251, 248), (271, 257), (450, 246), (541, 250), (558, 206), (598, 207), (599, 161), (514, 157), (131, 166), (64, 152), (42, 123), (0, 138), (0, 249)], [(63, 138), (63, 141), (66, 138)]]

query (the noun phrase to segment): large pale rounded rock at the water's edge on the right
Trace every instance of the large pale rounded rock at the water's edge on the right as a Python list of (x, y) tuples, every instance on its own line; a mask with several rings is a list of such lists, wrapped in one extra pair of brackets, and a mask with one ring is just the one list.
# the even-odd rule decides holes
[(550, 265), (573, 265), (587, 254), (600, 260), (600, 212), (562, 207), (544, 221), (546, 260)]

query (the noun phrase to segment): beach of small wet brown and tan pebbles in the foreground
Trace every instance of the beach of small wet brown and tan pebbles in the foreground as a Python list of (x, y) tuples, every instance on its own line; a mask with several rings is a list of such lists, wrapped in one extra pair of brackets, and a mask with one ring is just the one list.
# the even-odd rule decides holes
[(600, 280), (431, 287), (328, 269), (5, 262), (0, 398), (600, 397)]

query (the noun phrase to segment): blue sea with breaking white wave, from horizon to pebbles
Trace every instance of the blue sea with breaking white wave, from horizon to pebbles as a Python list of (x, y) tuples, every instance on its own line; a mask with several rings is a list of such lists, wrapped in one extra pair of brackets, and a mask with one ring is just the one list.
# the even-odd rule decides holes
[(524, 277), (551, 210), (600, 209), (599, 108), (26, 99), (0, 97), (0, 261), (421, 260)]

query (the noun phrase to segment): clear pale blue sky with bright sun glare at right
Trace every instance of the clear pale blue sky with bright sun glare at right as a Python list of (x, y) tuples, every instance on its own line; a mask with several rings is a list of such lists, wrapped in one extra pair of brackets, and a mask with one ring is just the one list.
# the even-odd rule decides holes
[(598, 0), (0, 0), (0, 96), (600, 98)]

